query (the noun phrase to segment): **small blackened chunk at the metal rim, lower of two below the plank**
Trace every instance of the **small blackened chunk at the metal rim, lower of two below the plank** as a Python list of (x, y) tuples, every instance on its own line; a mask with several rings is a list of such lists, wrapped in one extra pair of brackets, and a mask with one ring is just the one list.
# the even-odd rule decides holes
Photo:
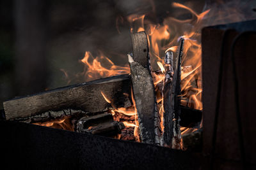
[(116, 134), (121, 134), (122, 129), (124, 128), (125, 126), (122, 122), (105, 122), (103, 124), (90, 127), (86, 132), (101, 136), (115, 136)]

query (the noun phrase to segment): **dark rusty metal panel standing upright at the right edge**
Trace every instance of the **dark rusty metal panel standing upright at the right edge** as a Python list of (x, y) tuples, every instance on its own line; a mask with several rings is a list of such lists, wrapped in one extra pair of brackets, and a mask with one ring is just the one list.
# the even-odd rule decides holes
[(255, 30), (252, 20), (202, 31), (203, 152), (212, 169), (256, 168), (256, 36), (246, 34), (234, 45), (241, 32)]

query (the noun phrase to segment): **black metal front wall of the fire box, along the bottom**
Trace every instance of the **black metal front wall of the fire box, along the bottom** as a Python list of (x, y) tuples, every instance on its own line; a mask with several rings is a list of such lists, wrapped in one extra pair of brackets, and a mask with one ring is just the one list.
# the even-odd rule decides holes
[(143, 143), (11, 121), (0, 134), (8, 169), (199, 169), (195, 153)]

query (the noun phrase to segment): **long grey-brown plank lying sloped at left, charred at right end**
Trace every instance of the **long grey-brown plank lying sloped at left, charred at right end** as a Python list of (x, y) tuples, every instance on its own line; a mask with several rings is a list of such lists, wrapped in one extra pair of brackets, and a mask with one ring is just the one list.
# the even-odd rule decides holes
[[(67, 108), (91, 113), (102, 111), (108, 103), (100, 92), (104, 92), (112, 99), (115, 106), (124, 106), (129, 98), (123, 93), (131, 92), (130, 82), (129, 75), (123, 74), (49, 90), (32, 96), (17, 97), (3, 103), (6, 120), (31, 117), (49, 110), (58, 111)], [(97, 107), (93, 103), (97, 103)]]

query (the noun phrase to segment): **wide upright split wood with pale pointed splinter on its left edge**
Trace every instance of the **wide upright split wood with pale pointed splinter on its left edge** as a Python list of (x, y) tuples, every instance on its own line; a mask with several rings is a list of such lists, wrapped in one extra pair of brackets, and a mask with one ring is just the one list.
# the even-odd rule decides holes
[(148, 43), (145, 32), (132, 34), (134, 57), (129, 57), (131, 68), (132, 92), (136, 103), (140, 138), (143, 143), (159, 144), (159, 115), (150, 73)]

